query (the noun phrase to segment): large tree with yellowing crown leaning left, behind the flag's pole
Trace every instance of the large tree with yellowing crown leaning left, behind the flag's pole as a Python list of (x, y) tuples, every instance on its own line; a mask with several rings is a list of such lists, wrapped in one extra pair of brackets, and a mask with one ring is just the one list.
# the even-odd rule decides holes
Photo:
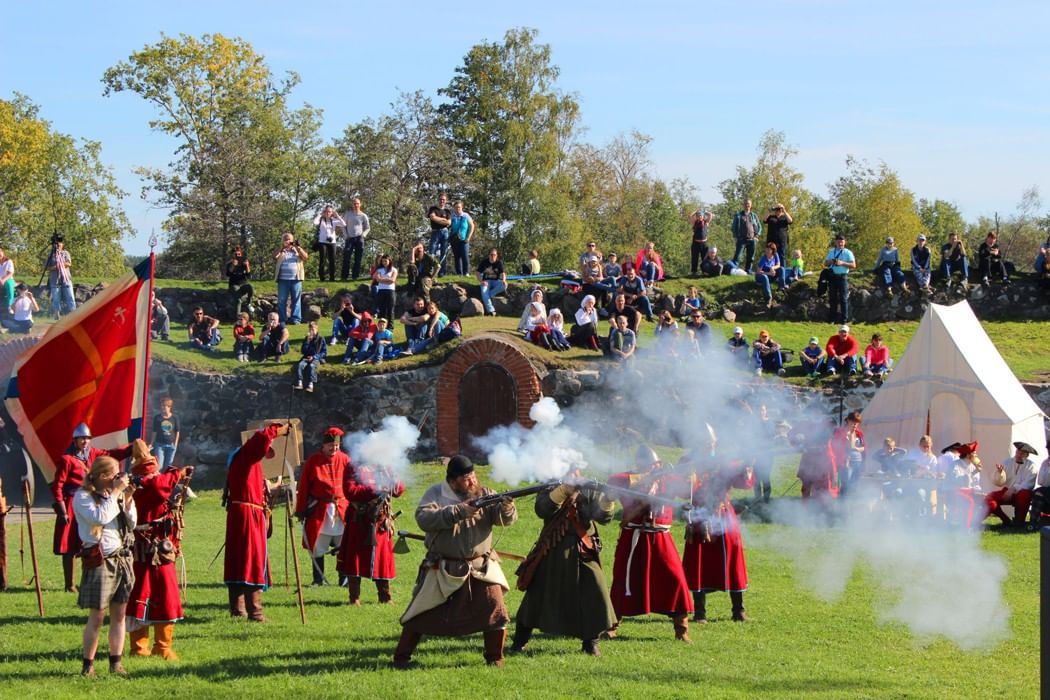
[(269, 246), (316, 206), (319, 111), (288, 109), (297, 83), (274, 81), (248, 42), (218, 34), (162, 37), (106, 70), (104, 94), (139, 94), (160, 112), (150, 127), (178, 141), (167, 168), (138, 171), (143, 196), (171, 212), (169, 273), (217, 272), (234, 242)]

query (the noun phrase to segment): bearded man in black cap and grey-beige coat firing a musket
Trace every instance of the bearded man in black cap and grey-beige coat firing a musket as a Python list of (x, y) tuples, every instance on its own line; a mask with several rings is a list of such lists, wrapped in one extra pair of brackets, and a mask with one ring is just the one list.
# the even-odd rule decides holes
[(509, 589), (492, 549), (492, 528), (518, 519), (510, 499), (486, 508), (472, 501), (495, 493), (478, 483), (474, 464), (463, 454), (448, 461), (445, 481), (426, 490), (416, 508), (416, 523), (426, 533), (426, 558), (420, 565), (412, 602), (401, 616), (401, 638), (394, 666), (411, 664), (424, 634), (461, 637), (481, 632), (485, 661), (503, 665), (503, 643), (510, 615), (503, 602)]

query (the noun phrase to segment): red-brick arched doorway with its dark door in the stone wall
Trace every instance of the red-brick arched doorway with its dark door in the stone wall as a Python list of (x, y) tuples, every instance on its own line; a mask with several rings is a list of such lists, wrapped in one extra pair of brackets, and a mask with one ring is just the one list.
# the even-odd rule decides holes
[[(479, 369), (477, 374), (471, 374), (475, 367)], [(475, 377), (477, 382), (472, 379)], [(494, 422), (495, 416), (484, 417), (484, 425), (482, 418), (472, 418), (475, 412), (484, 412), (477, 405), (467, 413), (461, 415), (464, 380), (467, 384), (476, 384), (479, 390), (494, 395), (491, 400), (500, 402), (499, 408), (485, 409), (494, 413), (498, 410), (499, 423)], [(465, 387), (465, 390), (471, 389)], [(456, 348), (438, 376), (437, 394), (437, 443), (438, 451), (444, 457), (469, 449), (470, 439), (495, 425), (517, 422), (531, 428), (533, 421), (528, 412), (532, 404), (543, 396), (536, 367), (516, 345), (516, 341), (494, 334), (475, 336)], [(481, 403), (487, 400), (481, 399)], [(463, 419), (466, 419), (468, 425), (462, 425)], [(478, 427), (470, 429), (470, 424)], [(481, 428), (484, 428), (481, 432), (475, 431)]]

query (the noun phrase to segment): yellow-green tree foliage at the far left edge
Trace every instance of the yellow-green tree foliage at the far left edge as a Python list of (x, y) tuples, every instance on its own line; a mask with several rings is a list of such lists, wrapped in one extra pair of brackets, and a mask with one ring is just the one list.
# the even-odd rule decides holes
[(101, 150), (52, 131), (27, 98), (0, 100), (0, 241), (20, 278), (40, 275), (54, 233), (65, 236), (75, 279), (124, 271), (126, 194)]

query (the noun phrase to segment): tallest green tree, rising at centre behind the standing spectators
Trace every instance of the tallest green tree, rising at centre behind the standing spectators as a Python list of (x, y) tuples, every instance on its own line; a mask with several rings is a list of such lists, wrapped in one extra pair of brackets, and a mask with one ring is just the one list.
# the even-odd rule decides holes
[(568, 199), (555, 186), (579, 106), (555, 87), (559, 69), (534, 29), (511, 29), (503, 43), (474, 46), (439, 111), (467, 174), (479, 245), (521, 258), (558, 233)]

